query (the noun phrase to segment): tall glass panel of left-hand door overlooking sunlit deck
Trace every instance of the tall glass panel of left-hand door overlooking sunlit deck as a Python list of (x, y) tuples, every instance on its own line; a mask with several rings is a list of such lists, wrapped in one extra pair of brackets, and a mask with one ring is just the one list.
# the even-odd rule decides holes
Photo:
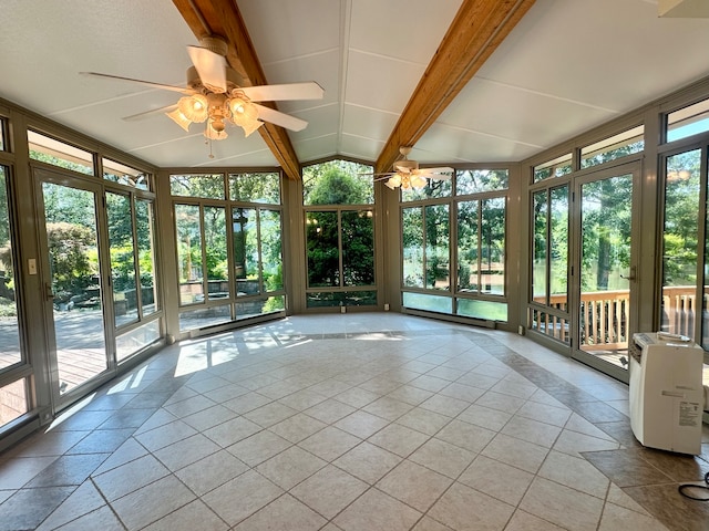
[(106, 369), (94, 194), (42, 184), (59, 389)]

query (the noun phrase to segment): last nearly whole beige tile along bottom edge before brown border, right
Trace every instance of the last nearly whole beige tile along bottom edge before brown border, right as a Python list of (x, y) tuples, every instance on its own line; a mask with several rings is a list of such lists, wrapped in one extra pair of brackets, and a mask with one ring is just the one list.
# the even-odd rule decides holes
[(562, 528), (595, 531), (603, 504), (603, 500), (596, 497), (536, 478), (522, 499), (520, 509)]

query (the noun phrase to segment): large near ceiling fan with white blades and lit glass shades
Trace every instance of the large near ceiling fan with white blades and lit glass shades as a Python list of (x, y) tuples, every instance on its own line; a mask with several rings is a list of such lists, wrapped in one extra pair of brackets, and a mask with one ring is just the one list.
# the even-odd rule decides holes
[(222, 140), (228, 136), (227, 124), (240, 126), (245, 136), (258, 129), (264, 122), (291, 131), (302, 131), (308, 125), (304, 119), (256, 102), (321, 100), (325, 91), (320, 85), (311, 81), (281, 85), (240, 86), (242, 76), (226, 62), (228, 49), (226, 41), (219, 37), (207, 37), (199, 43), (199, 46), (187, 46), (187, 53), (194, 66), (187, 69), (186, 87), (97, 72), (81, 73), (141, 83), (183, 94), (174, 105), (126, 116), (123, 119), (138, 119), (165, 113), (185, 131), (189, 131), (189, 125), (193, 123), (204, 123), (204, 136), (212, 140)]

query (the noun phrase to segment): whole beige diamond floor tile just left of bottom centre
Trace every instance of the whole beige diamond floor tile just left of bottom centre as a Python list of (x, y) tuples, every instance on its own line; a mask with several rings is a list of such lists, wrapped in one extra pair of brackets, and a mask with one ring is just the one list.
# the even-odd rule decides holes
[(333, 518), (369, 488), (364, 481), (328, 465), (290, 493), (326, 518)]

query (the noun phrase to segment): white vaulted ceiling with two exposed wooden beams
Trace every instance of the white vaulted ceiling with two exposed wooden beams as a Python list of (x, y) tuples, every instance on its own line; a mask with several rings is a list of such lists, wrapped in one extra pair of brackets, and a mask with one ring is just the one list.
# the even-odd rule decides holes
[[(665, 2), (665, 0), (662, 0)], [(298, 166), (341, 156), (389, 169), (516, 162), (709, 75), (709, 19), (654, 0), (3, 0), (0, 97), (161, 167)], [(309, 123), (213, 142), (167, 117), (185, 46), (227, 38), (246, 84), (316, 81), (279, 102)]]

